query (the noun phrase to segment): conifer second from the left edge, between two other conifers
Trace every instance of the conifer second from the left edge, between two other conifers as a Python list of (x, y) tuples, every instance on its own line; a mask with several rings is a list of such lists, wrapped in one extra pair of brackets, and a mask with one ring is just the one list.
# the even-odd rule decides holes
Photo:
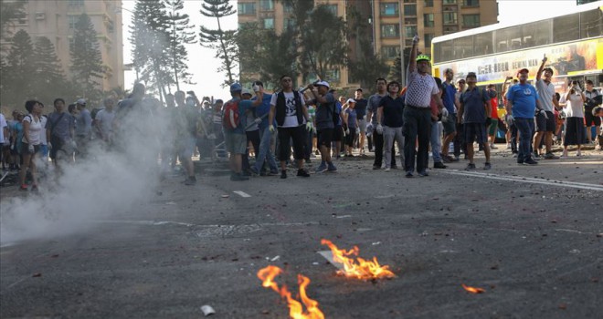
[(37, 98), (49, 103), (53, 98), (65, 94), (65, 75), (55, 46), (48, 37), (40, 36), (34, 46), (36, 77), (33, 80)]

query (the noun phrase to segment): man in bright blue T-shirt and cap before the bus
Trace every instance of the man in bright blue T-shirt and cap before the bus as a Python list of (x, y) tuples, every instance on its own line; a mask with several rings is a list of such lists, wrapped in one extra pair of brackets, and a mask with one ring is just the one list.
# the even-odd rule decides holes
[(509, 87), (507, 92), (507, 122), (515, 124), (519, 131), (519, 154), (517, 163), (524, 165), (536, 165), (537, 161), (532, 159), (530, 144), (534, 136), (534, 113), (538, 109), (538, 93), (536, 88), (527, 83), (528, 69), (522, 68), (517, 72), (519, 83)]

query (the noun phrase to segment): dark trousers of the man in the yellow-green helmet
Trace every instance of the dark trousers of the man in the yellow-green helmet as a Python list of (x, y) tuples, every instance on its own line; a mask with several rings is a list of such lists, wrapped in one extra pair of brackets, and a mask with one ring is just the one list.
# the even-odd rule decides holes
[[(417, 158), (417, 171), (427, 169), (429, 160), (429, 136), (431, 135), (431, 109), (404, 108), (404, 168), (406, 171), (415, 171), (415, 158)], [(418, 150), (415, 141), (418, 140)]]

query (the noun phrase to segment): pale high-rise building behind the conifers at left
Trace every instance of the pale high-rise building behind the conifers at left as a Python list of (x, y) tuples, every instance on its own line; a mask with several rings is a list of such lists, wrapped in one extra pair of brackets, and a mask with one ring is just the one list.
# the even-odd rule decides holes
[(13, 33), (23, 29), (31, 36), (32, 42), (36, 41), (37, 36), (48, 37), (69, 78), (69, 45), (73, 40), (75, 25), (79, 15), (89, 15), (97, 32), (102, 65), (107, 70), (99, 88), (110, 90), (123, 87), (121, 0), (29, 0), (24, 9), (25, 15), (11, 25)]

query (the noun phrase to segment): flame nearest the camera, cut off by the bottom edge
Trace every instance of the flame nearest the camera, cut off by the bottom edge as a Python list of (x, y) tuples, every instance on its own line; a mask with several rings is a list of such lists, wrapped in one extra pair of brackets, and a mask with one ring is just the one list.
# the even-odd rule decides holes
[[(297, 283), (300, 285), (300, 299), (302, 303), (291, 296), (291, 292), (287, 286), (283, 285), (279, 288), (279, 284), (274, 282), (274, 278), (282, 273), (282, 270), (277, 266), (269, 265), (262, 268), (258, 272), (258, 278), (262, 281), (261, 285), (265, 288), (271, 288), (273, 291), (280, 294), (280, 297), (287, 300), (289, 304), (289, 316), (293, 319), (324, 319), (323, 312), (318, 308), (318, 302), (308, 297), (306, 287), (310, 284), (310, 279), (302, 274), (297, 275)], [(303, 305), (307, 311), (303, 311)]]

